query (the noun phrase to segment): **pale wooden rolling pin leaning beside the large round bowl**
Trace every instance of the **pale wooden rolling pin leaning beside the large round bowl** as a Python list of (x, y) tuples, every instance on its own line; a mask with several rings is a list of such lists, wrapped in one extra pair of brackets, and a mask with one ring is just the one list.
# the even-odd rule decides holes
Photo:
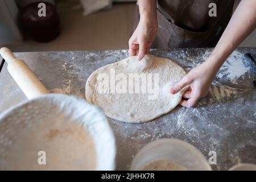
[(27, 64), (23, 60), (17, 59), (9, 48), (1, 48), (0, 54), (8, 64), (7, 70), (28, 99), (49, 93), (42, 82), (28, 68)]

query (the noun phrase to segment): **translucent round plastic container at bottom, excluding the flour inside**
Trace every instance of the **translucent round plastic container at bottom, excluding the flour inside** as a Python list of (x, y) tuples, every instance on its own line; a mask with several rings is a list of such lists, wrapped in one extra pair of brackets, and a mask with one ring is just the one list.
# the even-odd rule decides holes
[(130, 170), (142, 170), (157, 160), (168, 160), (188, 171), (210, 171), (210, 165), (197, 148), (179, 139), (159, 139), (148, 143), (134, 157)]

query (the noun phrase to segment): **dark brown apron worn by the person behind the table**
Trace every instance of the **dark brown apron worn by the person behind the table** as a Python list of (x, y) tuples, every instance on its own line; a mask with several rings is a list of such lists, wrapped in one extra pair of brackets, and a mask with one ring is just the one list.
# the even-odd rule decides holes
[[(209, 3), (216, 3), (216, 17), (208, 15)], [(233, 3), (233, 0), (158, 0), (158, 34), (151, 47), (216, 46), (232, 16)], [(138, 23), (138, 7), (135, 19)]]

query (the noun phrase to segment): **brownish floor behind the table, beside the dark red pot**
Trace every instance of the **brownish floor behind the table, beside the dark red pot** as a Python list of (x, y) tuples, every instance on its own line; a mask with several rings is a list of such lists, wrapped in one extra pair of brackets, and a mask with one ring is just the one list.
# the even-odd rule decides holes
[(36, 43), (25, 38), (24, 43), (5, 46), (14, 52), (127, 49), (135, 6), (114, 3), (112, 9), (84, 16), (81, 7), (60, 3), (61, 35), (57, 39)]

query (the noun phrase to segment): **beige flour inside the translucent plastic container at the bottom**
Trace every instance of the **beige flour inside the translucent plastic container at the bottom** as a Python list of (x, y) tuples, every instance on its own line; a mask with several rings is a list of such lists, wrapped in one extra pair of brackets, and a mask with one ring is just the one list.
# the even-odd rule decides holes
[(144, 166), (142, 171), (187, 171), (187, 168), (168, 160), (156, 160)]

